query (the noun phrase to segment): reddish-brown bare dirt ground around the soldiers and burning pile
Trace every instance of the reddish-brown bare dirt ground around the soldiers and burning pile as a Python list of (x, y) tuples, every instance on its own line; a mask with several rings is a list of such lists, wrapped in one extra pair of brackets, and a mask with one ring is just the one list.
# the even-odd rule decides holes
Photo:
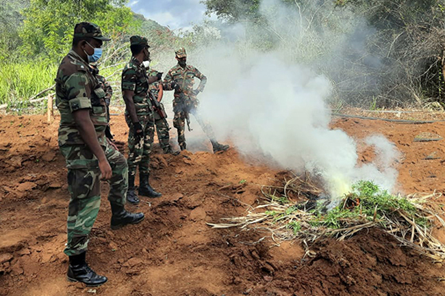
[[(444, 122), (335, 119), (332, 127), (356, 139), (381, 133), (394, 142), (403, 153), (398, 182), (405, 193), (444, 192), (445, 140), (414, 142), (420, 133), (445, 137)], [(282, 176), (255, 159), (241, 159), (233, 149), (223, 154), (154, 154), (152, 183), (164, 196), (128, 206), (147, 219), (122, 230), (110, 230), (103, 184), (88, 261), (109, 282), (99, 288), (67, 282), (62, 251), (69, 196), (57, 128), (58, 120), (48, 124), (44, 116), (0, 116), (0, 295), (445, 294), (442, 264), (400, 247), (377, 229), (343, 242), (319, 241), (312, 246), (316, 256), (308, 258), (298, 242), (277, 247), (270, 240), (255, 243), (264, 233), (206, 226), (242, 215), (246, 204), (257, 203), (260, 185), (277, 183)], [(112, 118), (112, 131), (125, 141), (121, 116)], [(359, 161), (372, 157), (372, 151), (361, 149)], [(246, 183), (240, 185), (240, 180)], [(433, 202), (445, 204), (445, 198)], [(445, 242), (443, 229), (435, 233)]]

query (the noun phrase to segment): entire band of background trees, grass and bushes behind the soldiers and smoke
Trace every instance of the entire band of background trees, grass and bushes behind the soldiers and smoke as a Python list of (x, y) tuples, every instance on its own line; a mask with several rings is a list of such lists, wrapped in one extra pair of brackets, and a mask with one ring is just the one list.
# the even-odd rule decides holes
[[(9, 111), (25, 110), (30, 103), (39, 107), (29, 99), (51, 91), (79, 21), (97, 23), (112, 37), (100, 68), (116, 94), (129, 36), (140, 33), (149, 38), (154, 59), (177, 46), (240, 38), (248, 45), (244, 49), (285, 47), (290, 63), (307, 64), (332, 81), (339, 105), (443, 109), (445, 104), (445, 0), (204, 0), (207, 14), (218, 21), (194, 25), (192, 33), (173, 33), (132, 12), (126, 0), (3, 2), (0, 107)], [(224, 28), (240, 24), (245, 31), (238, 40), (224, 36)]]

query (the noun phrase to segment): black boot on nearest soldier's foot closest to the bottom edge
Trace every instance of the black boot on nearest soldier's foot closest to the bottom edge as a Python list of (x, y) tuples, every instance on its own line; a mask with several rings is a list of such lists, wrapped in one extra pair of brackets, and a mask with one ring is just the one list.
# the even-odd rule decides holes
[(83, 282), (87, 286), (100, 286), (107, 282), (107, 278), (95, 273), (85, 261), (86, 252), (79, 255), (69, 256), (70, 265), (66, 278), (71, 282)]

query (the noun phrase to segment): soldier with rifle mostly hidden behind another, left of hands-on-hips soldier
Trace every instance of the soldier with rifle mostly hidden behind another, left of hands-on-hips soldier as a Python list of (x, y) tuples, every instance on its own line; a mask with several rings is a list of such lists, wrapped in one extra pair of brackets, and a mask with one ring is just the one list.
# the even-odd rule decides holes
[[(157, 70), (151, 68), (149, 75), (155, 76), (157, 75), (157, 73), (159, 73)], [(153, 82), (149, 86), (149, 92), (153, 94), (153, 98), (155, 100), (161, 102), (164, 90), (173, 90), (173, 88), (171, 88), (171, 84), (172, 83), (160, 83), (159, 81)], [(160, 107), (162, 108), (162, 113), (166, 114), (164, 105), (162, 105), (162, 103), (160, 103)], [(168, 132), (170, 130), (170, 127), (168, 126), (168, 122), (166, 120), (167, 117), (166, 116), (162, 117), (160, 113), (156, 110), (154, 110), (154, 113), (155, 113), (155, 126), (156, 126), (157, 139), (159, 139), (159, 144), (162, 148), (162, 151), (164, 151), (165, 154), (179, 153), (179, 152), (174, 152), (170, 146), (170, 133)]]

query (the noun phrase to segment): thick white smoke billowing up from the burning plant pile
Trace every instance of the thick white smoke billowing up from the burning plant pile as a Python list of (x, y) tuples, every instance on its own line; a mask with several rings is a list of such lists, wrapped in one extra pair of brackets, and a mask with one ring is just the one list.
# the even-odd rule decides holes
[[(292, 17), (289, 10), (283, 10), (277, 1), (268, 0), (272, 6), (265, 4), (262, 10), (275, 15), (274, 33), (292, 39), (283, 39), (268, 53), (252, 49), (248, 42), (220, 41), (189, 54), (189, 64), (209, 78), (205, 92), (199, 96), (205, 120), (212, 124), (218, 139), (230, 139), (242, 154), (266, 154), (283, 168), (307, 170), (318, 176), (333, 198), (350, 190), (356, 180), (373, 180), (391, 191), (397, 178), (392, 167), (398, 156), (394, 146), (383, 136), (369, 137), (365, 144), (374, 147), (377, 159), (358, 165), (355, 140), (329, 127), (326, 100), (332, 92), (331, 81), (316, 74), (307, 59), (302, 57), (303, 65), (295, 58), (309, 52), (307, 44), (298, 44), (298, 40), (305, 42), (302, 28), (307, 36), (313, 36), (311, 40), (338, 42), (346, 40), (348, 31), (354, 28), (338, 30), (337, 35), (325, 30), (317, 36), (303, 22), (311, 18), (293, 12), (303, 23), (292, 29), (283, 21)], [(277, 13), (283, 18), (277, 18)], [(298, 45), (305, 50), (294, 49)]]

